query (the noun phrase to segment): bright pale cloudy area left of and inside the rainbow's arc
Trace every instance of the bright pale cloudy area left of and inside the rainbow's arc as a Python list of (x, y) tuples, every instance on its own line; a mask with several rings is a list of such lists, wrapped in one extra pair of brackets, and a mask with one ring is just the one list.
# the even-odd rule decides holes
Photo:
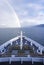
[(19, 18), (7, 0), (0, 1), (0, 28), (20, 27)]

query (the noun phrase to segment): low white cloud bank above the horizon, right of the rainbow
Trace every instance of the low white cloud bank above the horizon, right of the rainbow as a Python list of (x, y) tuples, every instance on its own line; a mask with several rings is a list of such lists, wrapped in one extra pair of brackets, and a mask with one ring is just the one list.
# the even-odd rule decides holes
[(44, 13), (38, 12), (36, 17), (27, 17), (24, 18), (22, 21), (22, 26), (33, 26), (33, 25), (38, 25), (38, 24), (44, 24)]

